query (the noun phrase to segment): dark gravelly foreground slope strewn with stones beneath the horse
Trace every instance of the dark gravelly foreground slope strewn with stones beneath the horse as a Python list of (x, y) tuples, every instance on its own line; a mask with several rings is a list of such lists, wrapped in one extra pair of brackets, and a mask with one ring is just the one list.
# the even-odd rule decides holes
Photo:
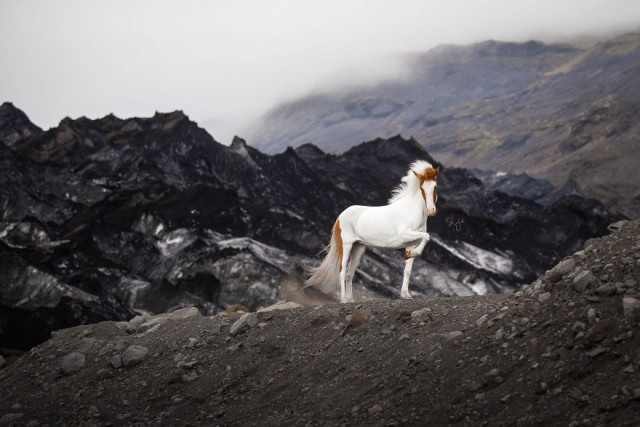
[(0, 359), (0, 424), (635, 426), (640, 222), (611, 229), (515, 294), (66, 329)]

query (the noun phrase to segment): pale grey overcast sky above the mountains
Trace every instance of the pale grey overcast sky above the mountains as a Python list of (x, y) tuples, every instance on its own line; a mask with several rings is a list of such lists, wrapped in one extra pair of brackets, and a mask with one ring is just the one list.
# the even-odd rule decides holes
[(395, 53), (639, 29), (638, 0), (0, 0), (0, 101), (45, 129), (180, 109), (229, 143), (279, 102), (389, 78)]

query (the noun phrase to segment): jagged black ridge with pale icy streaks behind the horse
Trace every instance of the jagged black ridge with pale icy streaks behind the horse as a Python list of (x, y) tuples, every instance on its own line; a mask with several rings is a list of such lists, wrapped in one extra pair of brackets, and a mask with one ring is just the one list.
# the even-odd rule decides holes
[[(297, 290), (335, 217), (386, 203), (411, 162), (433, 162), (400, 137), (341, 156), (310, 145), (268, 156), (217, 143), (181, 112), (48, 131), (11, 104), (0, 112), (0, 348), (136, 312), (330, 301)], [(514, 291), (619, 218), (575, 195), (548, 206), (512, 197), (463, 169), (439, 180), (415, 295)], [(396, 298), (403, 262), (368, 252), (356, 298)]]

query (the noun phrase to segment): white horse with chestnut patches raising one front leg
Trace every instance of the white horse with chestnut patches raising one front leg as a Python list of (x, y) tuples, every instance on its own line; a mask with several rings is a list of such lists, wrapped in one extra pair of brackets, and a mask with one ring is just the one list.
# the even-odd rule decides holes
[(440, 168), (429, 162), (414, 162), (402, 182), (391, 193), (386, 206), (350, 206), (333, 225), (331, 243), (322, 264), (311, 270), (305, 288), (340, 283), (340, 302), (353, 302), (351, 282), (366, 247), (404, 249), (404, 279), (400, 296), (411, 298), (409, 278), (413, 259), (427, 242), (427, 217), (436, 214)]

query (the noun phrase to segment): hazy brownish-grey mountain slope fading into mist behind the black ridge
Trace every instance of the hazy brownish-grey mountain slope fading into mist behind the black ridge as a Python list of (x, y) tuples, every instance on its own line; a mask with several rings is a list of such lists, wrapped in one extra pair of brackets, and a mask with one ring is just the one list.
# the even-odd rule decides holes
[(640, 215), (640, 34), (578, 48), (535, 41), (441, 46), (410, 77), (310, 95), (251, 127), (266, 152), (343, 152), (412, 135), (446, 165), (527, 174)]

